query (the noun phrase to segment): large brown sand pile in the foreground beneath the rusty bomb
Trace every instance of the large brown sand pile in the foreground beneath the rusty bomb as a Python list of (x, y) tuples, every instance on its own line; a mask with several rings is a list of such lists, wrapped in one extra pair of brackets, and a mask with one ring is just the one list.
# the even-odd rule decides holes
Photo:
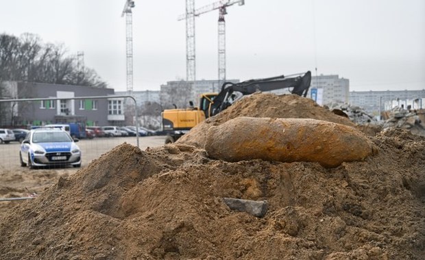
[(423, 259), (425, 138), (369, 140), (376, 155), (337, 168), (122, 144), (1, 218), (1, 259)]

